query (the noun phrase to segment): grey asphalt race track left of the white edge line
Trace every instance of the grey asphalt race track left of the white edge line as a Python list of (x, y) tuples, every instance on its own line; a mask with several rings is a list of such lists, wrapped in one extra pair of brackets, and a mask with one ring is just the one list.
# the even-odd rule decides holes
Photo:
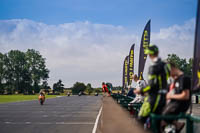
[(101, 96), (70, 96), (0, 104), (0, 133), (91, 133)]

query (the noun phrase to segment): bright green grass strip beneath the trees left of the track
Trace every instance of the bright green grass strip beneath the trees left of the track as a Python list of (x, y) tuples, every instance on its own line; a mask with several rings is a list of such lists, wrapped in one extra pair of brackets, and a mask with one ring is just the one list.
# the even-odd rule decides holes
[[(55, 98), (58, 95), (46, 95), (46, 99)], [(38, 95), (0, 95), (0, 103), (37, 100)]]

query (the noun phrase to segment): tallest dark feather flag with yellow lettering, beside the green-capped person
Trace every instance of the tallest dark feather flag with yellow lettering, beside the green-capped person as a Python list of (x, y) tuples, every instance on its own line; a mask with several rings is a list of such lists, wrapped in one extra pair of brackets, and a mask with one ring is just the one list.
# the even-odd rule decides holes
[(140, 44), (139, 67), (138, 67), (138, 77), (140, 79), (143, 79), (143, 71), (147, 59), (147, 55), (144, 53), (144, 49), (148, 48), (150, 43), (150, 32), (151, 32), (150, 24), (151, 20), (147, 22), (144, 28)]

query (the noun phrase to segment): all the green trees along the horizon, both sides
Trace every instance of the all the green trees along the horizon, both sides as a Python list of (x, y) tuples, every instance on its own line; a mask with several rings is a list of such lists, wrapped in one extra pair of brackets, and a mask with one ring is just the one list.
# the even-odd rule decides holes
[[(186, 75), (192, 75), (192, 58), (187, 61), (176, 54), (169, 54), (166, 60), (174, 62)], [(49, 92), (49, 70), (45, 63), (45, 58), (34, 49), (28, 49), (26, 52), (11, 50), (5, 54), (0, 52), (0, 94), (35, 94), (40, 89)], [(117, 86), (113, 87), (113, 90), (121, 88)], [(76, 82), (66, 89), (61, 79), (53, 84), (52, 89), (53, 93), (64, 93), (64, 90), (71, 90), (73, 94), (80, 91), (87, 94), (101, 92), (101, 87), (93, 88), (90, 83), (85, 85), (81, 82)]]

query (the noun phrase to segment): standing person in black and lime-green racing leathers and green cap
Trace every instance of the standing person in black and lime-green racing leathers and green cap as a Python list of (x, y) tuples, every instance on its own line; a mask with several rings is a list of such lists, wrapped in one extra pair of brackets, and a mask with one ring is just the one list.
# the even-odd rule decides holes
[(167, 80), (170, 75), (169, 65), (158, 57), (159, 51), (156, 45), (150, 45), (145, 49), (145, 54), (149, 55), (153, 64), (148, 71), (148, 86), (135, 90), (137, 94), (147, 93), (138, 114), (138, 120), (142, 123), (146, 122), (150, 113), (161, 113), (165, 106), (165, 95), (168, 91)]

